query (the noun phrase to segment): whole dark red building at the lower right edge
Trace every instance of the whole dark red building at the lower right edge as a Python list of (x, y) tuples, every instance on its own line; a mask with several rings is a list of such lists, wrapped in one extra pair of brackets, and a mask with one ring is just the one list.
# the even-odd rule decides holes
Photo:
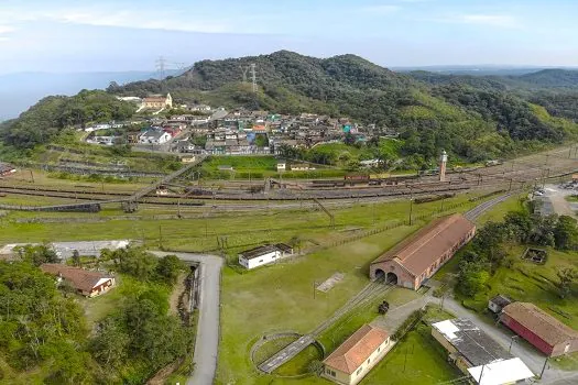
[(528, 302), (513, 302), (500, 314), (500, 321), (548, 356), (578, 351), (578, 331)]

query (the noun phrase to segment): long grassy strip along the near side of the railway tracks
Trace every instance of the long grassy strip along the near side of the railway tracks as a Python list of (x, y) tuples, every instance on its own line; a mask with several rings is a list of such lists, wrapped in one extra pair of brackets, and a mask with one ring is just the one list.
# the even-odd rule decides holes
[[(446, 208), (451, 202), (464, 202), (459, 210), (467, 210), (477, 202), (469, 202), (471, 195), (460, 195), (446, 199)], [(176, 211), (176, 208), (174, 208)], [(413, 216), (437, 215), (440, 202), (414, 205)], [(318, 209), (260, 210), (255, 212), (216, 212), (210, 207), (200, 209), (192, 219), (160, 220), (150, 217), (133, 220), (131, 216), (111, 221), (65, 222), (65, 223), (20, 223), (15, 219), (22, 213), (10, 212), (0, 224), (0, 243), (42, 242), (45, 240), (107, 240), (134, 239), (144, 241), (151, 248), (162, 244), (167, 250), (207, 251), (217, 248), (217, 237), (227, 237), (229, 250), (233, 255), (242, 249), (261, 242), (287, 242), (297, 237), (304, 248), (324, 242), (334, 242), (359, 234), (373, 228), (383, 227), (399, 220), (407, 220), (410, 205), (406, 201), (382, 204), (361, 204), (351, 208), (330, 209), (336, 219), (336, 230), (329, 226), (328, 217)], [(458, 210), (458, 209), (455, 209)], [(116, 211), (101, 213), (39, 213), (50, 218), (105, 218)], [(120, 211), (118, 212), (120, 213)], [(30, 215), (29, 215), (30, 216)], [(123, 219), (122, 219), (123, 218)], [(139, 217), (137, 217), (139, 218)], [(12, 220), (14, 219), (14, 220)], [(25, 235), (24, 235), (25, 234)]]

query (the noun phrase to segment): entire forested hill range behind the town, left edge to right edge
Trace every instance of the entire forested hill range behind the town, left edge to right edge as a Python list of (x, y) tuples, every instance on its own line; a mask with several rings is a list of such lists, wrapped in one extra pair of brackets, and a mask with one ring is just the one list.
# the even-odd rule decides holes
[[(243, 76), (250, 79), (251, 64), (257, 66), (257, 94), (243, 81)], [(186, 103), (350, 117), (399, 131), (403, 145), (397, 155), (425, 161), (441, 148), (467, 162), (508, 157), (578, 135), (571, 121), (577, 119), (578, 80), (576, 72), (563, 69), (503, 77), (400, 74), (355, 55), (315, 58), (281, 51), (201, 61), (179, 76), (111, 84), (107, 92), (43, 99), (20, 119), (0, 125), (0, 138), (32, 147), (66, 125), (129, 117), (131, 106), (114, 96), (164, 92)]]

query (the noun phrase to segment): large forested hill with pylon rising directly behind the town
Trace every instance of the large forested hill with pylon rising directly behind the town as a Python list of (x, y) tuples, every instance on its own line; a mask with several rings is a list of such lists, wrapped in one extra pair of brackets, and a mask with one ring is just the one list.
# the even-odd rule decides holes
[[(259, 91), (242, 81), (254, 63)], [(282, 51), (271, 55), (203, 61), (182, 76), (138, 81), (108, 90), (122, 95), (173, 92), (185, 101), (347, 116), (396, 129), (400, 155), (432, 158), (441, 148), (476, 162), (522, 148), (560, 143), (577, 127), (560, 130), (533, 112), (527, 100), (497, 77), (402, 75), (355, 55), (319, 59)], [(538, 102), (539, 100), (533, 100)], [(549, 111), (549, 110), (548, 110)]]

